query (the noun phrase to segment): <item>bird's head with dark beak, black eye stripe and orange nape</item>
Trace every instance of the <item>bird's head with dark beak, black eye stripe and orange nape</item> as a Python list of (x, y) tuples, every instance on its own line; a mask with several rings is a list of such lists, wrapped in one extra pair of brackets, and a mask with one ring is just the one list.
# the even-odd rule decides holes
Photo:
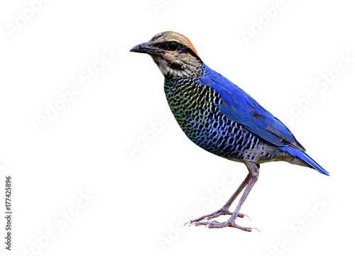
[(172, 31), (154, 35), (147, 43), (133, 47), (131, 52), (151, 55), (160, 71), (168, 77), (190, 77), (197, 74), (202, 66), (202, 60), (190, 40)]

